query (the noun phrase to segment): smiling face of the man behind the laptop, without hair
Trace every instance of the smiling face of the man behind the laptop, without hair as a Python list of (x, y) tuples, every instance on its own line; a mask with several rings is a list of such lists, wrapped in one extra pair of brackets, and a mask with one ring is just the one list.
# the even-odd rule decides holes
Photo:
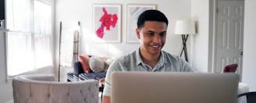
[(165, 45), (167, 25), (165, 22), (146, 21), (144, 27), (136, 29), (140, 39), (140, 53), (158, 55)]

